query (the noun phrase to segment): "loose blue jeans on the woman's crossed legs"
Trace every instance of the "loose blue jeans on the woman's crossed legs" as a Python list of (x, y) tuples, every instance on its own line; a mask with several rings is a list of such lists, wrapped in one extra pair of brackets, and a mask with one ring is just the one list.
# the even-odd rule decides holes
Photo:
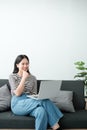
[(54, 126), (63, 114), (49, 100), (35, 100), (22, 96), (13, 96), (11, 100), (11, 110), (16, 115), (31, 115), (35, 117), (35, 130), (46, 130), (47, 124)]

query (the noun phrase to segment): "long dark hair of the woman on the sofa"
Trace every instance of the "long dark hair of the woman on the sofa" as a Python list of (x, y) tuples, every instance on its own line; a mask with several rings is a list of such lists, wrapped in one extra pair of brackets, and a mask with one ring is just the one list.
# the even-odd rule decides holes
[[(26, 55), (18, 55), (17, 56), (17, 58), (15, 59), (15, 62), (14, 62), (13, 73), (18, 73), (19, 70), (17, 68), (17, 64), (19, 64), (24, 58), (26, 58), (29, 62), (28, 56), (26, 56)], [(30, 73), (29, 70), (27, 72)]]

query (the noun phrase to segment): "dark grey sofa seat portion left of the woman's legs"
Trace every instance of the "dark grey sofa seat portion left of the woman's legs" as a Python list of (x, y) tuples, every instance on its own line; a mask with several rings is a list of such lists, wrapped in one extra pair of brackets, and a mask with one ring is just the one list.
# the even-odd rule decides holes
[(11, 111), (0, 112), (0, 129), (34, 129), (35, 118), (16, 116)]

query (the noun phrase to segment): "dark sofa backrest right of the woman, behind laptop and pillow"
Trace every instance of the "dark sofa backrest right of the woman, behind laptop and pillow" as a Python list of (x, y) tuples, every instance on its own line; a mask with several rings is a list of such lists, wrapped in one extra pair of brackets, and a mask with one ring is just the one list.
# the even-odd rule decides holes
[[(39, 91), (41, 80), (37, 81), (37, 90)], [(63, 80), (61, 90), (73, 91), (73, 104), (75, 110), (85, 109), (84, 83), (81, 80)]]

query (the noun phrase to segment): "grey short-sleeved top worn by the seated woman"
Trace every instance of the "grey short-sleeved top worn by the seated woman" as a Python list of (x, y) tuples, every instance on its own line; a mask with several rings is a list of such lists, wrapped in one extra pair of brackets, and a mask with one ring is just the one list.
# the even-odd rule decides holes
[[(21, 77), (17, 73), (12, 73), (9, 76), (9, 84), (11, 87), (11, 94), (14, 95), (13, 90), (17, 88), (21, 81)], [(24, 92), (26, 94), (33, 94), (37, 93), (37, 80), (36, 77), (31, 75), (26, 79), (25, 84), (24, 84)]]

